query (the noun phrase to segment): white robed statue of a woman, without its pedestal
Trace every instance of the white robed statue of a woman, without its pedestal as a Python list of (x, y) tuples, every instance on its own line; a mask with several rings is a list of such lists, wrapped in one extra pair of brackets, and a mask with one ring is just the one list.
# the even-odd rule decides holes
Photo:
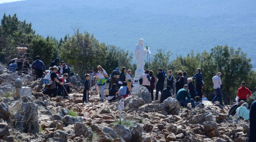
[(144, 40), (140, 39), (139, 43), (136, 45), (136, 48), (135, 48), (135, 57), (137, 60), (136, 72), (137, 73), (141, 72), (142, 74), (144, 73), (144, 56), (148, 51), (147, 49), (143, 48), (143, 42)]

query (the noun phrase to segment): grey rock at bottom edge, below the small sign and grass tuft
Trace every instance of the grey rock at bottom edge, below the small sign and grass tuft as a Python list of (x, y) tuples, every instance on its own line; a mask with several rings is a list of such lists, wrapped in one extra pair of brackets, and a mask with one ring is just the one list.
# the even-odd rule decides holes
[(131, 131), (125, 125), (116, 125), (114, 131), (116, 131), (120, 137), (124, 138), (126, 142), (132, 140)]

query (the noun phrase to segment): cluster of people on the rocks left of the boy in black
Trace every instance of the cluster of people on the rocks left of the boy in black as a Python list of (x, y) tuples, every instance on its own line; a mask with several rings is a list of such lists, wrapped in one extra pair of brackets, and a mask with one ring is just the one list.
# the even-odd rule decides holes
[[(60, 64), (59, 64), (60, 63)], [(32, 70), (31, 70), (32, 69)], [(21, 73), (35, 76), (37, 78), (44, 78), (49, 74), (52, 83), (50, 85), (45, 85), (44, 94), (48, 94), (50, 97), (55, 97), (57, 95), (68, 97), (70, 93), (70, 67), (65, 64), (64, 61), (60, 62), (59, 58), (56, 58), (49, 66), (49, 70), (44, 65), (44, 62), (40, 60), (40, 56), (36, 56), (36, 60), (29, 64), (29, 60), (26, 60), (26, 56), (23, 55), (20, 59), (15, 58), (10, 60), (8, 64), (8, 70), (12, 72), (17, 72), (19, 75)]]

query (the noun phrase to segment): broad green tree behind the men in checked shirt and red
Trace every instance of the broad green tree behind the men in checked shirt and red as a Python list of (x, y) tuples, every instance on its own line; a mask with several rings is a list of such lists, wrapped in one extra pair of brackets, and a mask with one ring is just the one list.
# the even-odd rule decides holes
[(222, 83), (225, 86), (225, 104), (230, 104), (230, 98), (235, 98), (236, 94), (230, 94), (230, 88), (237, 88), (241, 81), (245, 80), (252, 70), (251, 58), (233, 47), (216, 46), (211, 50), (212, 59), (217, 70), (222, 73)]

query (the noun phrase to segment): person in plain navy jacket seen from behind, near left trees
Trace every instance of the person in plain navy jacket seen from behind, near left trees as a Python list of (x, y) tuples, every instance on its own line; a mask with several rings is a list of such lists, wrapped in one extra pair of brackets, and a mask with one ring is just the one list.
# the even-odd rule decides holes
[(44, 71), (47, 70), (43, 61), (40, 60), (40, 56), (36, 56), (36, 61), (33, 62), (31, 68), (36, 71), (37, 78), (42, 78)]

